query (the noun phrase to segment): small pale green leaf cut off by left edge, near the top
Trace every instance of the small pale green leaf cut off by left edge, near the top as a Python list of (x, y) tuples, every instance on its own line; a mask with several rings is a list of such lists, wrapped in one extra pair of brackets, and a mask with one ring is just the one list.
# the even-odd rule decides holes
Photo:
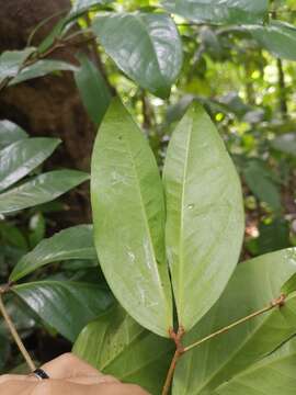
[(5, 78), (16, 76), (20, 67), (35, 48), (25, 48), (22, 50), (5, 50), (0, 55), (0, 83)]

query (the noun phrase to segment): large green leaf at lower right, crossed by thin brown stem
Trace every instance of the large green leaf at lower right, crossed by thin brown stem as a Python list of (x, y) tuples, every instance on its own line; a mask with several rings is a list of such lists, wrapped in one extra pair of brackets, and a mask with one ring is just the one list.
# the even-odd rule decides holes
[[(221, 297), (185, 336), (184, 345), (221, 329), (269, 305), (296, 271), (296, 248), (240, 263)], [(291, 297), (292, 296), (292, 297)], [(275, 350), (296, 332), (296, 296), (273, 309), (196, 347), (180, 360), (174, 394), (212, 394), (235, 374)]]

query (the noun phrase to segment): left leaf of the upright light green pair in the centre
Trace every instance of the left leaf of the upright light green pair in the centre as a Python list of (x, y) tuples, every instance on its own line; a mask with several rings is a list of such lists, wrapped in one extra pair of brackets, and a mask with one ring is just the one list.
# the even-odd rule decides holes
[(113, 293), (140, 325), (169, 336), (172, 301), (161, 179), (148, 143), (118, 100), (95, 140), (91, 201), (95, 247)]

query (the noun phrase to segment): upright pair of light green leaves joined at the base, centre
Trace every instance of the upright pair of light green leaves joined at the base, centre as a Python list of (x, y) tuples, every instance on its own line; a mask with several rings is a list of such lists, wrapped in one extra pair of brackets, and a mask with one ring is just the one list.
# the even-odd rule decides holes
[(166, 255), (179, 324), (187, 331), (216, 302), (235, 269), (243, 212), (234, 165), (198, 105), (193, 104), (177, 127), (163, 172), (166, 242), (156, 160), (130, 115), (113, 101), (92, 156), (95, 246), (125, 309), (144, 327), (168, 337), (173, 323)]

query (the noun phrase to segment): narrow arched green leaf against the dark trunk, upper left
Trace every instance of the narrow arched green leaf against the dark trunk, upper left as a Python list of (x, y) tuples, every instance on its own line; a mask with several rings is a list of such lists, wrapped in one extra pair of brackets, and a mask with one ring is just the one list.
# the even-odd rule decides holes
[(77, 71), (78, 67), (62, 60), (38, 60), (22, 71), (10, 81), (10, 86), (33, 78), (44, 77), (54, 71)]

